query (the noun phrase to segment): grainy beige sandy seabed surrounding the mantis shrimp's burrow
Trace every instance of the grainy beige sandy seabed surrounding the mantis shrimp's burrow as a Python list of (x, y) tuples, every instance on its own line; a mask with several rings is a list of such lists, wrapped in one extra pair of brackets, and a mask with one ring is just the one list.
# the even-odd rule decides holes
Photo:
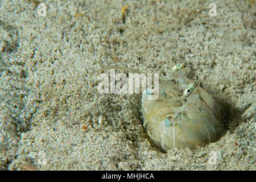
[[(217, 16), (212, 1), (44, 3), (39, 17), (37, 1), (0, 2), (2, 169), (255, 170), (254, 1), (214, 1)], [(193, 150), (154, 147), (141, 94), (82, 77), (102, 65), (168, 76), (181, 61), (227, 115), (220, 140)]]

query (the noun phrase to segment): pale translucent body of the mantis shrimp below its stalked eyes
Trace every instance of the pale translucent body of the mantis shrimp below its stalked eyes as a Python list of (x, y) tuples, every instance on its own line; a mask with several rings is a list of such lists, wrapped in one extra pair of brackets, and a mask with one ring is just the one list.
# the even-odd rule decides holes
[(152, 141), (163, 150), (194, 148), (214, 142), (223, 133), (221, 111), (216, 101), (197, 86), (188, 97), (183, 91), (192, 80), (173, 76), (159, 80), (159, 97), (148, 100), (142, 95), (144, 127)]

